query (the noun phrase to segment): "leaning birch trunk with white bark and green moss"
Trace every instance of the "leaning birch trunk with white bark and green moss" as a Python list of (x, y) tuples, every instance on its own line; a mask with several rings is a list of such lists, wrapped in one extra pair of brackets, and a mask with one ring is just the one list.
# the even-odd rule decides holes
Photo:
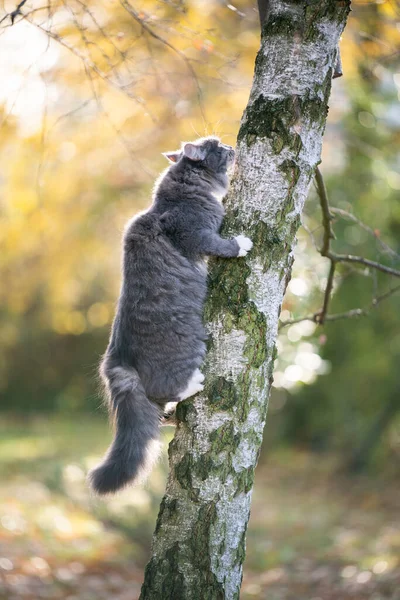
[(141, 600), (239, 598), (279, 312), (350, 1), (269, 8), (223, 230), (246, 233), (254, 248), (210, 264), (205, 395), (178, 408)]

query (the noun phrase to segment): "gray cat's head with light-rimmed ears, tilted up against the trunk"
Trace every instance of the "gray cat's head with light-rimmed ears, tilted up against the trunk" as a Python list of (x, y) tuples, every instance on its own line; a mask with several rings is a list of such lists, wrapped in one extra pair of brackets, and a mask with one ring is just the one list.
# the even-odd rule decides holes
[(228, 167), (233, 164), (235, 151), (232, 146), (223, 144), (219, 138), (208, 136), (195, 142), (183, 142), (180, 150), (165, 152), (164, 156), (171, 163), (178, 163), (184, 159), (218, 175), (226, 173)]

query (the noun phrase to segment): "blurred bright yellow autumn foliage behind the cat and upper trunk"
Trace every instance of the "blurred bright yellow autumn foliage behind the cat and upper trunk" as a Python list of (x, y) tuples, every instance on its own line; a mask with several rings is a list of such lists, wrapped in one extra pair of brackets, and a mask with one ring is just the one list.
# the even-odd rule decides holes
[[(124, 5), (60, 0), (51, 28), (43, 10), (2, 35), (0, 301), (60, 334), (111, 321), (123, 224), (149, 204), (160, 153), (210, 133), (234, 143), (251, 87), (248, 2)], [(399, 44), (394, 3), (353, 8), (349, 82)]]

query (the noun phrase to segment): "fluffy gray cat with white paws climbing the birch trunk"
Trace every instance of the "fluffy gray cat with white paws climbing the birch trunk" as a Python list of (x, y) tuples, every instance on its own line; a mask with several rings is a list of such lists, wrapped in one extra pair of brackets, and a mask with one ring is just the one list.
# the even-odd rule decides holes
[(234, 150), (216, 137), (166, 153), (150, 209), (124, 235), (123, 282), (100, 373), (115, 437), (89, 474), (99, 494), (142, 479), (158, 455), (165, 406), (203, 389), (204, 256), (245, 256), (252, 242), (219, 236)]

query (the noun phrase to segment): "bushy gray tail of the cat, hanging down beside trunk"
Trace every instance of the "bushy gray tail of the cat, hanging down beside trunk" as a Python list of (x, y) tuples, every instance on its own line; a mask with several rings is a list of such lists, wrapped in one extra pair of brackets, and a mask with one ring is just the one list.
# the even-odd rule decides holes
[(160, 410), (146, 397), (135, 369), (103, 363), (115, 435), (102, 464), (89, 473), (98, 494), (144, 479), (159, 454)]

